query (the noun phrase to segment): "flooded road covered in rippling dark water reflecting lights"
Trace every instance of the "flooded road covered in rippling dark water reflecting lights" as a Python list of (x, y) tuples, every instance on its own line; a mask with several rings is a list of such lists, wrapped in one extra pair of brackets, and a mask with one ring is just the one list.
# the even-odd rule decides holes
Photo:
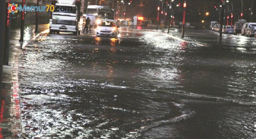
[(44, 34), (23, 49), (25, 137), (256, 137), (253, 51), (129, 28), (121, 36)]

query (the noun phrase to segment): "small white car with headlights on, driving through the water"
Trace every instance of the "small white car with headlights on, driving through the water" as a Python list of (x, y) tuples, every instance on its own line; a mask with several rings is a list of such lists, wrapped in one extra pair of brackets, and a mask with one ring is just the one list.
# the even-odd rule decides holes
[(101, 19), (97, 20), (96, 36), (117, 37), (119, 35), (119, 26), (115, 20)]

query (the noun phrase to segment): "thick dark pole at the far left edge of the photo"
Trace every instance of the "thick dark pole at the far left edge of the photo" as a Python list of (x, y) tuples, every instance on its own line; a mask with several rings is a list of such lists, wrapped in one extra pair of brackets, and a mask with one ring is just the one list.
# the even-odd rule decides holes
[(6, 30), (6, 12), (7, 7), (5, 0), (0, 1), (0, 90), (2, 88), (2, 71), (3, 71), (3, 48), (5, 44), (5, 30)]

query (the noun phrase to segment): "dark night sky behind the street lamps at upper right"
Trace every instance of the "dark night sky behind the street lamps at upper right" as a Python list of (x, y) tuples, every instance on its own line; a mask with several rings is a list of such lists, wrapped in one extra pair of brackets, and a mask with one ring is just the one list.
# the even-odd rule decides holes
[[(125, 2), (129, 2), (130, 0), (124, 0)], [(131, 5), (126, 6), (126, 17), (132, 18), (134, 15), (141, 15), (142, 10), (142, 16), (146, 17), (147, 19), (156, 19), (157, 17), (157, 6), (159, 0), (143, 0), (144, 7), (140, 7), (140, 0), (132, 0)], [(166, 2), (166, 0), (164, 1)], [(170, 2), (170, 0), (168, 0)], [(173, 2), (173, 8), (177, 8), (175, 10), (175, 18), (179, 21), (182, 20), (182, 13), (183, 13), (183, 7), (176, 7), (177, 3), (183, 3), (184, 0), (174, 0)], [(230, 0), (228, 3), (230, 14), (231, 14), (231, 2), (233, 3), (233, 21), (238, 20), (238, 16), (241, 13), (241, 0)], [(243, 0), (244, 6), (243, 6), (243, 13), (244, 17), (243, 19), (250, 20), (250, 13), (251, 11), (249, 8), (251, 8), (251, 2), (252, 0)], [(219, 11), (221, 8), (219, 5), (221, 4), (220, 0), (186, 0), (187, 3), (187, 9), (186, 9), (186, 20), (187, 22), (200, 22), (202, 19), (213, 21), (218, 21), (219, 19)], [(253, 4), (253, 9), (255, 9), (255, 14), (253, 14), (252, 22), (255, 22), (256, 17), (256, 1)], [(214, 6), (217, 6), (218, 10), (214, 8)], [(162, 7), (162, 3), (160, 2), (160, 7)], [(165, 7), (165, 4), (164, 4)], [(226, 16), (227, 16), (227, 6), (226, 6)], [(210, 15), (208, 17), (205, 16), (205, 12), (209, 12)], [(199, 15), (199, 13), (201, 13)]]

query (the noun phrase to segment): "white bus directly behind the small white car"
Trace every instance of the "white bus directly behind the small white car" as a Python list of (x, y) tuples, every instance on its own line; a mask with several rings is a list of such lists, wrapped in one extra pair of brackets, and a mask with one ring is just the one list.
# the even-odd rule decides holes
[(108, 6), (88, 5), (84, 18), (89, 17), (91, 19), (91, 25), (95, 26), (97, 21), (100, 22), (100, 19), (114, 19), (114, 13), (114, 9)]

